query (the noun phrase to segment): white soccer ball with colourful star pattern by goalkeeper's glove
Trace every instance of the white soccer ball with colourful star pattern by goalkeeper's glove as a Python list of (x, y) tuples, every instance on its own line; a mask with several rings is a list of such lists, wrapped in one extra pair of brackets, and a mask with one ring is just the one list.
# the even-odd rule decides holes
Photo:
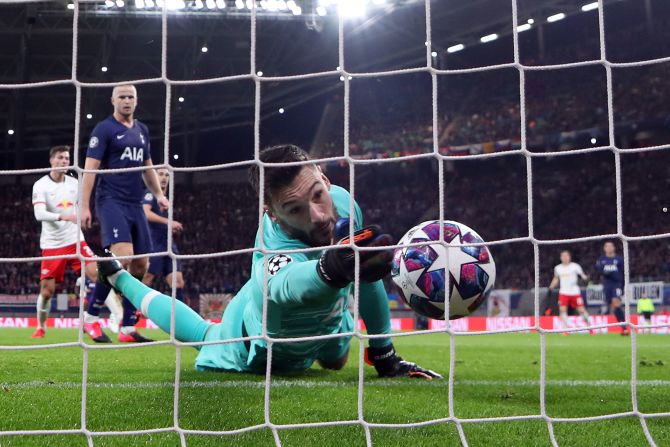
[(449, 220), (423, 222), (409, 230), (399, 244), (440, 242), (395, 250), (391, 278), (400, 296), (418, 314), (444, 320), (445, 298), (449, 319), (469, 315), (486, 299), (496, 279), (496, 266), (487, 247), (454, 247), (481, 243), (471, 228)]

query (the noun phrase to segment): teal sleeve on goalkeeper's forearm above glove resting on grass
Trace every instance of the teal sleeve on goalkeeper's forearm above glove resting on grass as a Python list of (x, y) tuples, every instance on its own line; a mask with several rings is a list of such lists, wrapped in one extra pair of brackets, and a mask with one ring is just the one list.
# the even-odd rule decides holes
[[(359, 311), (365, 322), (368, 334), (389, 334), (391, 332), (391, 316), (386, 290), (381, 281), (360, 283)], [(384, 299), (382, 299), (384, 298)], [(391, 344), (390, 338), (371, 338), (370, 346), (383, 348)]]

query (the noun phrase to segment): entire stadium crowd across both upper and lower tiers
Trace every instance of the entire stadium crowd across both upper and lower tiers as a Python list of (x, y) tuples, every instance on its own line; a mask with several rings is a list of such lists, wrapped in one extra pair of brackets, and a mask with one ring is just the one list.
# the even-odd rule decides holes
[[(608, 57), (618, 62), (669, 54), (670, 26), (667, 25), (658, 21), (653, 29), (646, 29), (644, 24), (615, 29), (607, 35)], [(567, 36), (566, 39), (562, 45), (547, 51), (543, 58), (533, 51), (522, 51), (523, 63), (557, 64), (600, 58), (597, 35)], [(640, 45), (641, 39), (648, 45)], [(403, 78), (397, 85), (388, 80), (353, 80), (352, 155), (387, 158), (432, 150), (432, 90), (429, 77), (425, 73), (421, 76)], [(643, 123), (653, 121), (656, 126), (656, 139), (640, 142), (632, 138), (632, 145), (667, 143), (670, 114), (665, 100), (670, 97), (669, 77), (670, 63), (613, 68), (617, 125), (629, 126), (629, 132), (637, 136), (645, 129)], [(527, 72), (529, 140), (540, 141), (542, 150), (547, 145), (540, 137), (549, 134), (591, 128), (595, 133), (606, 135), (605, 86), (605, 71), (599, 65)], [(390, 89), (394, 94), (387, 94)], [(440, 148), (520, 138), (519, 82), (515, 69), (440, 77), (438, 106)], [(335, 127), (335, 134), (320, 148), (319, 157), (342, 155), (342, 126)], [(626, 235), (667, 232), (669, 214), (662, 210), (670, 206), (667, 196), (670, 178), (668, 156), (664, 152), (622, 156), (622, 223)], [(555, 240), (616, 233), (612, 155), (559, 158), (533, 161), (534, 236)], [(381, 224), (399, 239), (416, 223), (437, 219), (436, 163), (435, 160), (415, 160), (357, 167), (355, 193), (366, 220)], [(523, 157), (515, 155), (486, 161), (446, 162), (444, 217), (471, 226), (485, 240), (527, 237), (525, 163)], [(326, 166), (326, 170), (334, 183), (348, 186), (347, 166), (335, 163)], [(39, 256), (39, 225), (33, 216), (30, 186), (4, 185), (3, 188), (0, 218), (7, 230), (0, 236), (2, 257)], [(181, 254), (219, 253), (253, 246), (258, 198), (248, 185), (177, 182), (175, 191), (174, 216), (185, 228), (175, 237)], [(573, 257), (587, 270), (592, 270), (601, 246), (601, 241), (567, 245), (573, 250)], [(634, 241), (629, 248), (631, 278), (670, 280), (667, 240)], [(551, 268), (558, 262), (557, 250), (558, 246), (554, 245), (540, 247), (542, 285), (549, 282)], [(492, 251), (498, 264), (497, 287), (533, 286), (533, 247), (529, 242), (496, 245)], [(236, 253), (184, 260), (187, 294), (235, 292), (249, 276), (250, 257), (249, 253)], [(0, 263), (1, 293), (37, 293), (38, 269), (38, 262)], [(74, 280), (73, 275), (67, 275), (64, 290), (72, 291)]]

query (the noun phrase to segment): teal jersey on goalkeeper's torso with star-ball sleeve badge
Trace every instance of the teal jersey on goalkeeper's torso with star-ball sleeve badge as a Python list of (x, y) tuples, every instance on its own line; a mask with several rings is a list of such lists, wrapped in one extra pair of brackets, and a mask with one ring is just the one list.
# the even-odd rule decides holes
[[(331, 185), (330, 195), (339, 217), (349, 217), (350, 194), (344, 188)], [(362, 212), (355, 202), (354, 221), (357, 230), (362, 228)], [(260, 246), (259, 230), (254, 248)], [(246, 334), (262, 334), (263, 290), (266, 279), (268, 336), (294, 338), (341, 332), (345, 312), (349, 312), (351, 286), (334, 289), (323, 282), (316, 271), (316, 264), (323, 251), (317, 249), (301, 253), (282, 252), (310, 247), (288, 236), (267, 215), (263, 217), (263, 246), (266, 250), (276, 252), (266, 255), (260, 251), (254, 252), (251, 278), (231, 300), (222, 324), (213, 328), (219, 333), (208, 336), (208, 340), (241, 336), (239, 334), (242, 334), (242, 322)], [(361, 285), (361, 294), (363, 293), (375, 295), (370, 299), (378, 302), (381, 300), (388, 308), (388, 299), (381, 281)], [(386, 326), (381, 331), (385, 332)], [(275, 343), (272, 347), (273, 369), (309, 368), (329, 341), (332, 340)], [(265, 340), (253, 340), (247, 346), (248, 355), (242, 343), (203, 346), (196, 364), (205, 368), (263, 372), (267, 361), (267, 343)], [(234, 352), (231, 355), (231, 349), (245, 352)]]

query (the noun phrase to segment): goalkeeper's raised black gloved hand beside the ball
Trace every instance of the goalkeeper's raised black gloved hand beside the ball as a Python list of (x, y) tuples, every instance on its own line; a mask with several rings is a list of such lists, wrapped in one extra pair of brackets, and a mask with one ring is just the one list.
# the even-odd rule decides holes
[[(345, 219), (340, 219), (336, 225), (341, 230)], [(348, 231), (348, 219), (346, 219)], [(371, 225), (354, 233), (354, 242), (360, 247), (383, 247), (391, 244), (391, 236), (382, 234), (381, 229)], [(349, 244), (349, 236), (343, 237), (338, 244)], [(360, 279), (363, 282), (374, 282), (382, 279), (391, 272), (393, 250), (361, 251)], [(323, 281), (336, 289), (341, 289), (354, 280), (355, 253), (350, 247), (333, 248), (326, 250), (316, 265), (316, 270)]]

